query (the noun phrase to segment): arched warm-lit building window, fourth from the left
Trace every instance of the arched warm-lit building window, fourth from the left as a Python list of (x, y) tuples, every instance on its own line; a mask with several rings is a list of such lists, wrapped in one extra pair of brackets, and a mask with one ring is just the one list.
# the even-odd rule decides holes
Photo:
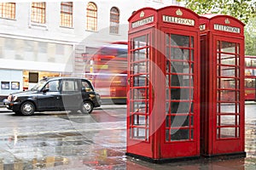
[(97, 31), (97, 7), (95, 3), (87, 4), (87, 27), (88, 31)]

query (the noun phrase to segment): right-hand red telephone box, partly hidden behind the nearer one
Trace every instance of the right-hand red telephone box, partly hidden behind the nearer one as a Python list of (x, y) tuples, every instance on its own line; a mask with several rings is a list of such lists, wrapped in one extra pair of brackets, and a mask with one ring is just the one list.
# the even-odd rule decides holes
[(201, 28), (201, 154), (244, 151), (244, 24), (206, 14)]

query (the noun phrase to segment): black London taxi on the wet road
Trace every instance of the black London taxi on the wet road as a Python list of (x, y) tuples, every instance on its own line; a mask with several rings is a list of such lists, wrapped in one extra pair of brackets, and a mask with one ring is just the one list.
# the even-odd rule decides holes
[(32, 115), (35, 111), (81, 111), (91, 113), (101, 106), (90, 81), (76, 77), (49, 77), (31, 90), (10, 94), (3, 104), (16, 114)]

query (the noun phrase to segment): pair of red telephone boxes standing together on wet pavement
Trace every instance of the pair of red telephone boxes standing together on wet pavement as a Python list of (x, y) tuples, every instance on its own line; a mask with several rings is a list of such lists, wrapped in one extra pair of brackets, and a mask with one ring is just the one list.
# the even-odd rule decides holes
[[(177, 6), (141, 8), (131, 15), (126, 155), (156, 163), (244, 155), (243, 25), (228, 17), (237, 24), (228, 27), (240, 33), (227, 34), (224, 17), (213, 20)], [(235, 59), (233, 65), (224, 63), (229, 59)], [(230, 85), (222, 88), (225, 80)], [(235, 99), (223, 100), (226, 92)], [(237, 142), (236, 149), (226, 150), (229, 141)]]

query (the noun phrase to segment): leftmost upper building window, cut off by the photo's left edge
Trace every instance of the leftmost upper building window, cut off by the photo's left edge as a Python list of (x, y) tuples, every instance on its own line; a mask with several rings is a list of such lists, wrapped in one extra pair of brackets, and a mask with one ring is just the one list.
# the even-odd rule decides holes
[(0, 17), (15, 19), (15, 3), (0, 3)]

